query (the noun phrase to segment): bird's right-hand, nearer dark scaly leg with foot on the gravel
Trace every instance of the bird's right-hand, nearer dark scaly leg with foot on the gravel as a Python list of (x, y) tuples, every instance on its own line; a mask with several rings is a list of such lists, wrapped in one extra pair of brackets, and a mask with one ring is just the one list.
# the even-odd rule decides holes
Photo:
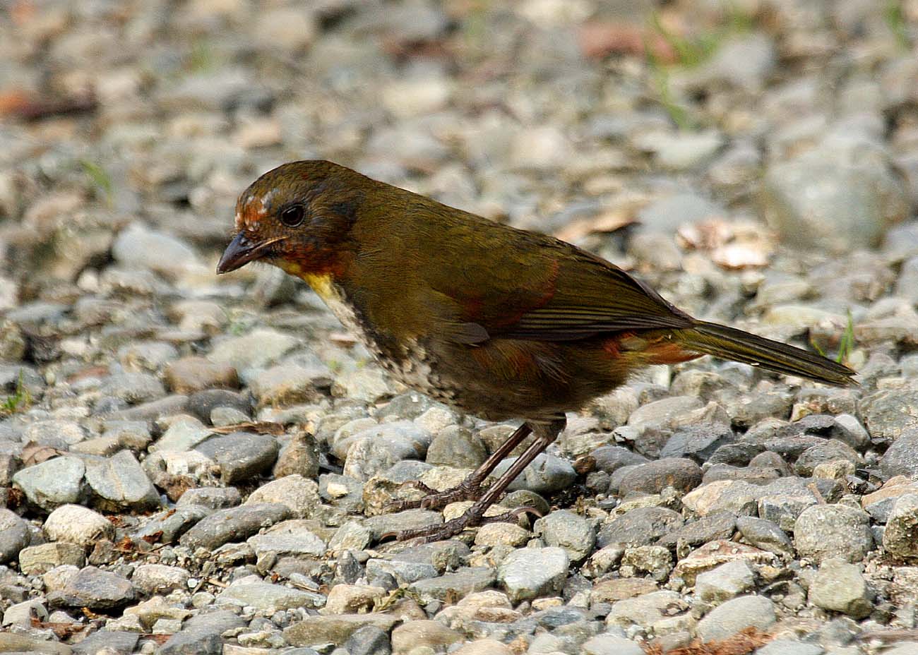
[[(472, 505), (465, 514), (451, 521), (446, 521), (439, 525), (418, 527), (411, 530), (402, 530), (394, 533), (395, 538), (399, 541), (405, 539), (420, 537), (425, 542), (440, 541), (453, 537), (462, 532), (466, 527), (473, 527), (482, 522), (487, 512), (487, 508), (494, 505), (498, 498), (507, 490), (523, 470), (529, 466), (532, 461), (539, 456), (548, 446), (557, 439), (558, 434), (565, 427), (565, 418), (560, 416), (551, 423), (533, 424), (531, 429), (535, 432), (535, 440), (529, 445), (529, 448), (523, 451), (520, 457), (514, 461), (509, 469), (501, 475), (498, 480), (487, 488), (487, 491), (479, 498), (475, 505)], [(519, 515), (519, 511), (508, 512), (500, 516), (489, 516), (488, 523), (499, 520), (508, 520)]]

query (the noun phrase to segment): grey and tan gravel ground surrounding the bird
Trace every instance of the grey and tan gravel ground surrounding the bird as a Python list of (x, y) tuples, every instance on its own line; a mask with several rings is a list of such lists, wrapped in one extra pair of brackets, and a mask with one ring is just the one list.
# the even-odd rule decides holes
[[(0, 16), (0, 651), (918, 653), (918, 2)], [(502, 501), (542, 518), (380, 544), (464, 508), (385, 515), (400, 483), (512, 426), (387, 380), (282, 273), (216, 277), (236, 195), (317, 157), (861, 386), (658, 367)]]

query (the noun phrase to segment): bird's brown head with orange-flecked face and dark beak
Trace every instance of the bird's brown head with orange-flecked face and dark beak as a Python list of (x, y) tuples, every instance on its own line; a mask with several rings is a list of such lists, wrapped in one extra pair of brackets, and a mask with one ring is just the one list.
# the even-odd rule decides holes
[(264, 173), (236, 202), (236, 236), (217, 272), (250, 261), (298, 277), (334, 272), (352, 240), (366, 181), (330, 161), (293, 161)]

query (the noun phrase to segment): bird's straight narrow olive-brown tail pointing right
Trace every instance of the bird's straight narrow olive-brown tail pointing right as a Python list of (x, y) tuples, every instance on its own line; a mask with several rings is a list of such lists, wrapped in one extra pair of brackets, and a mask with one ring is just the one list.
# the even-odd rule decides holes
[(735, 327), (699, 321), (693, 327), (678, 330), (678, 342), (684, 350), (742, 361), (769, 371), (800, 375), (837, 386), (856, 384), (851, 379), (856, 372), (847, 366)]

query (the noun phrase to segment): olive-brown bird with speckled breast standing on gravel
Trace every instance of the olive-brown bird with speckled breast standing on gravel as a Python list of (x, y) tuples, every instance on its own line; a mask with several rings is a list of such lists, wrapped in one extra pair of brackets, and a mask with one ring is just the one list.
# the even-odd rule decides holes
[[(409, 506), (475, 499), (397, 538), (449, 538), (485, 510), (580, 409), (650, 364), (715, 355), (845, 385), (834, 361), (692, 318), (644, 283), (552, 237), (509, 228), (330, 161), (266, 172), (236, 205), (218, 273), (265, 261), (305, 280), (397, 380), (488, 420), (524, 423), (458, 487)], [(523, 439), (532, 444), (487, 490)], [(487, 520), (487, 519), (486, 519)]]

